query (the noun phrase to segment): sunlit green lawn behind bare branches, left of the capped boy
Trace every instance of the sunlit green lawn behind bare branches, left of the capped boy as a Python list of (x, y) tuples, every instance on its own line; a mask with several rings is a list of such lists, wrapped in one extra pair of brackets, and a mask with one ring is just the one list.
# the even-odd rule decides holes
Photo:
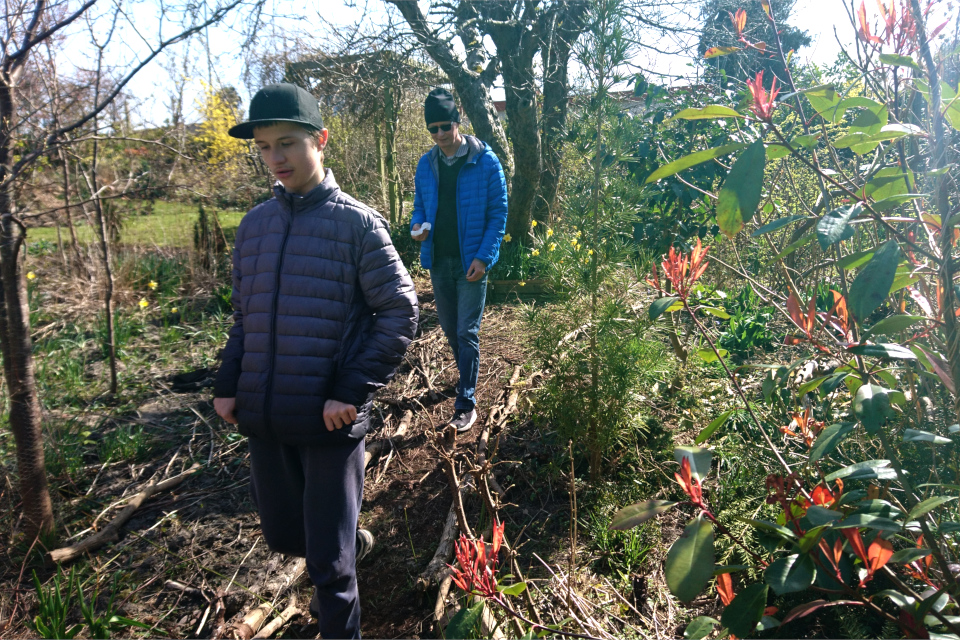
[[(217, 211), (223, 232), (230, 241), (236, 234), (243, 211)], [(179, 247), (193, 246), (193, 224), (197, 219), (197, 206), (179, 202), (157, 201), (154, 213), (151, 215), (129, 215), (123, 220), (123, 230), (120, 232), (120, 241), (126, 245), (141, 247)], [(69, 232), (61, 228), (61, 236), (66, 241)], [(77, 224), (77, 238), (82, 243), (96, 241), (94, 230), (86, 224)], [(33, 227), (27, 232), (27, 242), (50, 243), (54, 247), (57, 242), (55, 227)]]

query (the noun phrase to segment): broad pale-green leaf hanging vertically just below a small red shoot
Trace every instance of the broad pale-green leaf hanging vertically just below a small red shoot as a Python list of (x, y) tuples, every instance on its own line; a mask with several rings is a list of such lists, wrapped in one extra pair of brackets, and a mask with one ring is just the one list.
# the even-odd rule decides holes
[(713, 525), (701, 514), (690, 521), (667, 553), (664, 573), (670, 592), (682, 602), (690, 602), (710, 582), (714, 564)]

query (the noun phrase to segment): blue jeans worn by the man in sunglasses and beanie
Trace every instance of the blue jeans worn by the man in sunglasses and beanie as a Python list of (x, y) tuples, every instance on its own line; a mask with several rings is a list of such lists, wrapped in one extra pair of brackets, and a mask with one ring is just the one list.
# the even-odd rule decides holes
[(476, 406), (474, 394), (480, 374), (480, 319), (487, 300), (487, 276), (467, 281), (459, 257), (434, 257), (430, 269), (433, 296), (440, 328), (447, 336), (453, 358), (460, 370), (454, 408), (470, 411)]

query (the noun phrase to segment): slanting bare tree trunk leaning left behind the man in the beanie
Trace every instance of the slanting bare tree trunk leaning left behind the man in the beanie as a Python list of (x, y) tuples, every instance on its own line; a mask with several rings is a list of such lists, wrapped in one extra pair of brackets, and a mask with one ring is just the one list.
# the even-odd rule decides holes
[(490, 97), (490, 86), (496, 78), (496, 59), (488, 63), (481, 72), (464, 68), (449, 42), (438, 39), (416, 2), (409, 0), (386, 0), (395, 6), (410, 25), (417, 40), (426, 49), (427, 54), (437, 63), (453, 83), (460, 104), (463, 107), (473, 132), (486, 142), (500, 158), (507, 180), (513, 175), (513, 160), (507, 134), (497, 119), (497, 110)]

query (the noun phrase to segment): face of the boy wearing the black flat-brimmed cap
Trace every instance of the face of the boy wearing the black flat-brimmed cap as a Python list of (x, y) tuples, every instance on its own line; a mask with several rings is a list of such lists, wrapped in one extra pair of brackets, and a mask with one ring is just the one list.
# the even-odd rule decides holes
[(306, 195), (323, 181), (323, 148), (327, 130), (307, 131), (292, 122), (253, 130), (260, 157), (284, 189)]

